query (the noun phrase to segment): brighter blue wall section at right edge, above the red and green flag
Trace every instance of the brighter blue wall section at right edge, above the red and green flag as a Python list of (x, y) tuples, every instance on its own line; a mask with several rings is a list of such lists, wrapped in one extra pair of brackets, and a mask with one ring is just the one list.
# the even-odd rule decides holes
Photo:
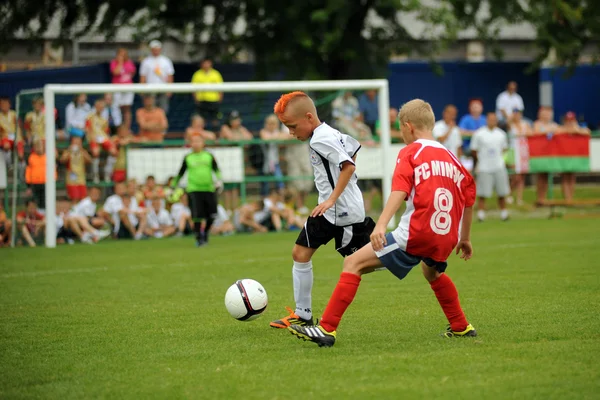
[(586, 122), (600, 128), (600, 65), (582, 65), (565, 79), (566, 70), (544, 68), (540, 71), (542, 82), (552, 82), (555, 118), (567, 111), (583, 114)]

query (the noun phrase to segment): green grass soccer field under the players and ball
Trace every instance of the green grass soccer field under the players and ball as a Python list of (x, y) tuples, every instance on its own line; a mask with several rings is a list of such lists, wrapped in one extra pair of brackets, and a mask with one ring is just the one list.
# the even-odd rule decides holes
[[(294, 233), (0, 250), (0, 398), (519, 398), (600, 393), (600, 219), (476, 224), (452, 257), (477, 338), (446, 320), (419, 271), (365, 276), (333, 348), (269, 328), (293, 305)], [(342, 260), (314, 260), (323, 311)], [(261, 282), (265, 314), (223, 297)]]

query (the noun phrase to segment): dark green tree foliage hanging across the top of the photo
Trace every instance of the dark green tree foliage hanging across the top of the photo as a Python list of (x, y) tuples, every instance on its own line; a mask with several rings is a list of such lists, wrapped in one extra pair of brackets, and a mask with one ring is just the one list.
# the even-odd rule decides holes
[[(475, 28), (494, 45), (500, 27), (530, 22), (537, 32), (539, 66), (551, 53), (559, 65), (576, 64), (583, 47), (600, 38), (600, 2), (594, 0), (5, 0), (0, 33), (39, 38), (53, 18), (58, 40), (84, 33), (111, 37), (136, 28), (138, 40), (173, 38), (228, 60), (242, 49), (256, 56), (259, 77), (384, 76), (391, 54), (419, 52), (433, 60), (458, 33)], [(424, 24), (419, 40), (401, 23), (411, 13)], [(239, 29), (241, 27), (241, 29)], [(4, 41), (3, 43), (8, 43)], [(497, 49), (497, 47), (495, 47)], [(501, 57), (501, 53), (497, 52)]]

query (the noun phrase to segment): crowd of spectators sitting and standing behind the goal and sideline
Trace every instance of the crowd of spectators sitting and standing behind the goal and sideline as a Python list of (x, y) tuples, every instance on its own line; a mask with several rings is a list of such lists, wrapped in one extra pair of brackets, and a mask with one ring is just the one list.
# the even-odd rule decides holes
[[(151, 54), (139, 69), (140, 82), (148, 84), (173, 82), (174, 68), (171, 60), (162, 55), (159, 41), (150, 42)], [(132, 83), (138, 73), (125, 49), (119, 49), (110, 62), (116, 85)], [(192, 83), (219, 84), (221, 74), (205, 59), (193, 75)], [(541, 107), (536, 121), (523, 117), (523, 99), (515, 82), (509, 82), (506, 91), (498, 95), (495, 108), (485, 111), (480, 99), (472, 99), (468, 112), (460, 119), (457, 105), (448, 104), (433, 129), (434, 137), (478, 178), (478, 218), (485, 219), (486, 199), (493, 192), (498, 195), (501, 217), (508, 218), (506, 204), (516, 197), (517, 205), (523, 203), (523, 188), (528, 174), (527, 137), (548, 134), (589, 134), (580, 126), (576, 115), (567, 113), (561, 124), (554, 120), (550, 107)], [(170, 93), (142, 95), (142, 107), (133, 110), (134, 94), (107, 93), (96, 97), (90, 104), (86, 94), (78, 94), (65, 109), (64, 130), (57, 129), (57, 138), (68, 144), (57, 150), (57, 162), (64, 171), (66, 197), (57, 202), (61, 242), (79, 240), (96, 243), (105, 237), (141, 239), (167, 237), (191, 233), (191, 216), (187, 198), (170, 204), (163, 187), (149, 176), (143, 185), (127, 180), (126, 146), (131, 143), (161, 142), (169, 128), (167, 113)], [(190, 118), (184, 133), (185, 145), (199, 136), (208, 141), (247, 141), (257, 137), (263, 144), (257, 150), (260, 157), (255, 165), (259, 175), (272, 177), (260, 185), (261, 200), (239, 203), (237, 185), (226, 185), (222, 195), (223, 205), (212, 229), (217, 234), (234, 232), (266, 232), (269, 230), (297, 229), (308, 214), (304, 202), (312, 190), (312, 182), (299, 179), (284, 183), (282, 163), (288, 176), (312, 175), (308, 145), (285, 146), (281, 142), (292, 139), (285, 126), (275, 115), (267, 115), (264, 126), (253, 135), (247, 129), (238, 111), (221, 118), (223, 93), (197, 92), (193, 94), (196, 113)], [(18, 214), (17, 232), (20, 240), (35, 245), (45, 229), (46, 179), (45, 114), (43, 99), (32, 101), (32, 111), (19, 124), (8, 98), (0, 98), (0, 144), (2, 155), (9, 166), (17, 157), (19, 176), (27, 184), (27, 204)], [(341, 92), (331, 104), (331, 124), (340, 131), (358, 139), (365, 146), (376, 145), (381, 133), (377, 92), (367, 90), (358, 98), (351, 91)], [(55, 110), (56, 125), (58, 112)], [(401, 142), (398, 109), (390, 108), (390, 135)], [(138, 127), (132, 131), (132, 123)], [(272, 143), (269, 143), (272, 142)], [(253, 148), (249, 149), (252, 153)], [(102, 170), (100, 167), (103, 167)], [(508, 171), (512, 174), (509, 177)], [(57, 172), (58, 173), (58, 172)], [(88, 182), (93, 187), (88, 190)], [(101, 187), (99, 184), (104, 182)], [(271, 187), (274, 183), (274, 188)], [(165, 188), (168, 187), (165, 182)], [(381, 191), (379, 181), (361, 181), (367, 212), (371, 212), (372, 199)], [(286, 187), (287, 186), (287, 187)], [(573, 199), (575, 175), (562, 175), (562, 188), (567, 201)], [(102, 190), (101, 190), (102, 189)], [(111, 194), (102, 204), (103, 193)], [(537, 176), (537, 203), (542, 204), (547, 190), (547, 176)], [(10, 238), (10, 221), (0, 208), (0, 246)]]

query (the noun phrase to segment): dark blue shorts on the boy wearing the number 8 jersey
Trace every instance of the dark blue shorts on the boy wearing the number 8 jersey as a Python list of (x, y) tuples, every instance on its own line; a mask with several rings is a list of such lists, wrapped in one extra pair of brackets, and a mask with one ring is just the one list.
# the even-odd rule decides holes
[(446, 271), (448, 266), (446, 261), (435, 261), (429, 257), (413, 256), (400, 248), (391, 233), (385, 235), (385, 238), (387, 239), (387, 245), (381, 251), (376, 251), (375, 254), (377, 254), (379, 261), (398, 279), (403, 279), (421, 261), (440, 273)]

